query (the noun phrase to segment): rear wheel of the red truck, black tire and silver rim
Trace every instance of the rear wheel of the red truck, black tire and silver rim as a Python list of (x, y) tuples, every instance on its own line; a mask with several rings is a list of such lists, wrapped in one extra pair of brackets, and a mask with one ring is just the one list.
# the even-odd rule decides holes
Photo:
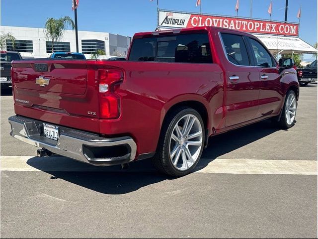
[(162, 125), (155, 167), (171, 176), (183, 176), (198, 164), (204, 146), (204, 123), (194, 109), (182, 107), (169, 114)]

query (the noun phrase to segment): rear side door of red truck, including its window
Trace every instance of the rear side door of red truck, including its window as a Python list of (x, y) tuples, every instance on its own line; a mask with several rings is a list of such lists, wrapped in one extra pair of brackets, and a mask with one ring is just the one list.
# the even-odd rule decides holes
[(221, 33), (227, 57), (227, 117), (225, 126), (255, 119), (258, 112), (259, 72), (251, 67), (246, 39), (242, 35)]

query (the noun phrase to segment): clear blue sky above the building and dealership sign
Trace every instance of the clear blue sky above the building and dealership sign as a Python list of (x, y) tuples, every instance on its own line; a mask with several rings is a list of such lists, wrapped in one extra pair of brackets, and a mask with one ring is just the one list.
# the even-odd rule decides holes
[[(236, 15), (237, 0), (201, 0), (202, 13)], [(239, 0), (239, 16), (249, 17), (250, 1)], [(253, 0), (252, 17), (269, 19), (271, 0)], [(284, 21), (286, 0), (273, 0), (272, 20)], [(159, 0), (159, 8), (199, 12), (196, 0)], [(289, 0), (288, 18), (298, 22), (299, 36), (313, 45), (317, 42), (317, 0)], [(1, 25), (43, 27), (48, 17), (71, 16), (72, 0), (1, 0)], [(78, 28), (133, 36), (135, 32), (154, 31), (157, 26), (157, 0), (79, 0)]]

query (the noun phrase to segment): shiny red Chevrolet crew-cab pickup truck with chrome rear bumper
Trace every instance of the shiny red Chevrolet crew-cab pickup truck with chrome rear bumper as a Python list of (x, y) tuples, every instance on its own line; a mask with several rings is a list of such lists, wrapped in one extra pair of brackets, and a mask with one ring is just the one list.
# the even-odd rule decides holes
[(272, 118), (295, 122), (299, 84), (247, 33), (197, 27), (134, 35), (126, 61), (13, 61), (11, 135), (97, 166), (152, 158), (182, 176), (208, 138)]

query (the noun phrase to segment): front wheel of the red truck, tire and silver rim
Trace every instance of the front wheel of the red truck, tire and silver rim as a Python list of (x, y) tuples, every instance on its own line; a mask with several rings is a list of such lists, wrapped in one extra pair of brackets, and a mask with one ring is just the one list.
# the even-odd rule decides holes
[(297, 100), (294, 91), (289, 90), (286, 95), (282, 115), (279, 120), (279, 125), (282, 128), (290, 128), (295, 124), (297, 110)]

